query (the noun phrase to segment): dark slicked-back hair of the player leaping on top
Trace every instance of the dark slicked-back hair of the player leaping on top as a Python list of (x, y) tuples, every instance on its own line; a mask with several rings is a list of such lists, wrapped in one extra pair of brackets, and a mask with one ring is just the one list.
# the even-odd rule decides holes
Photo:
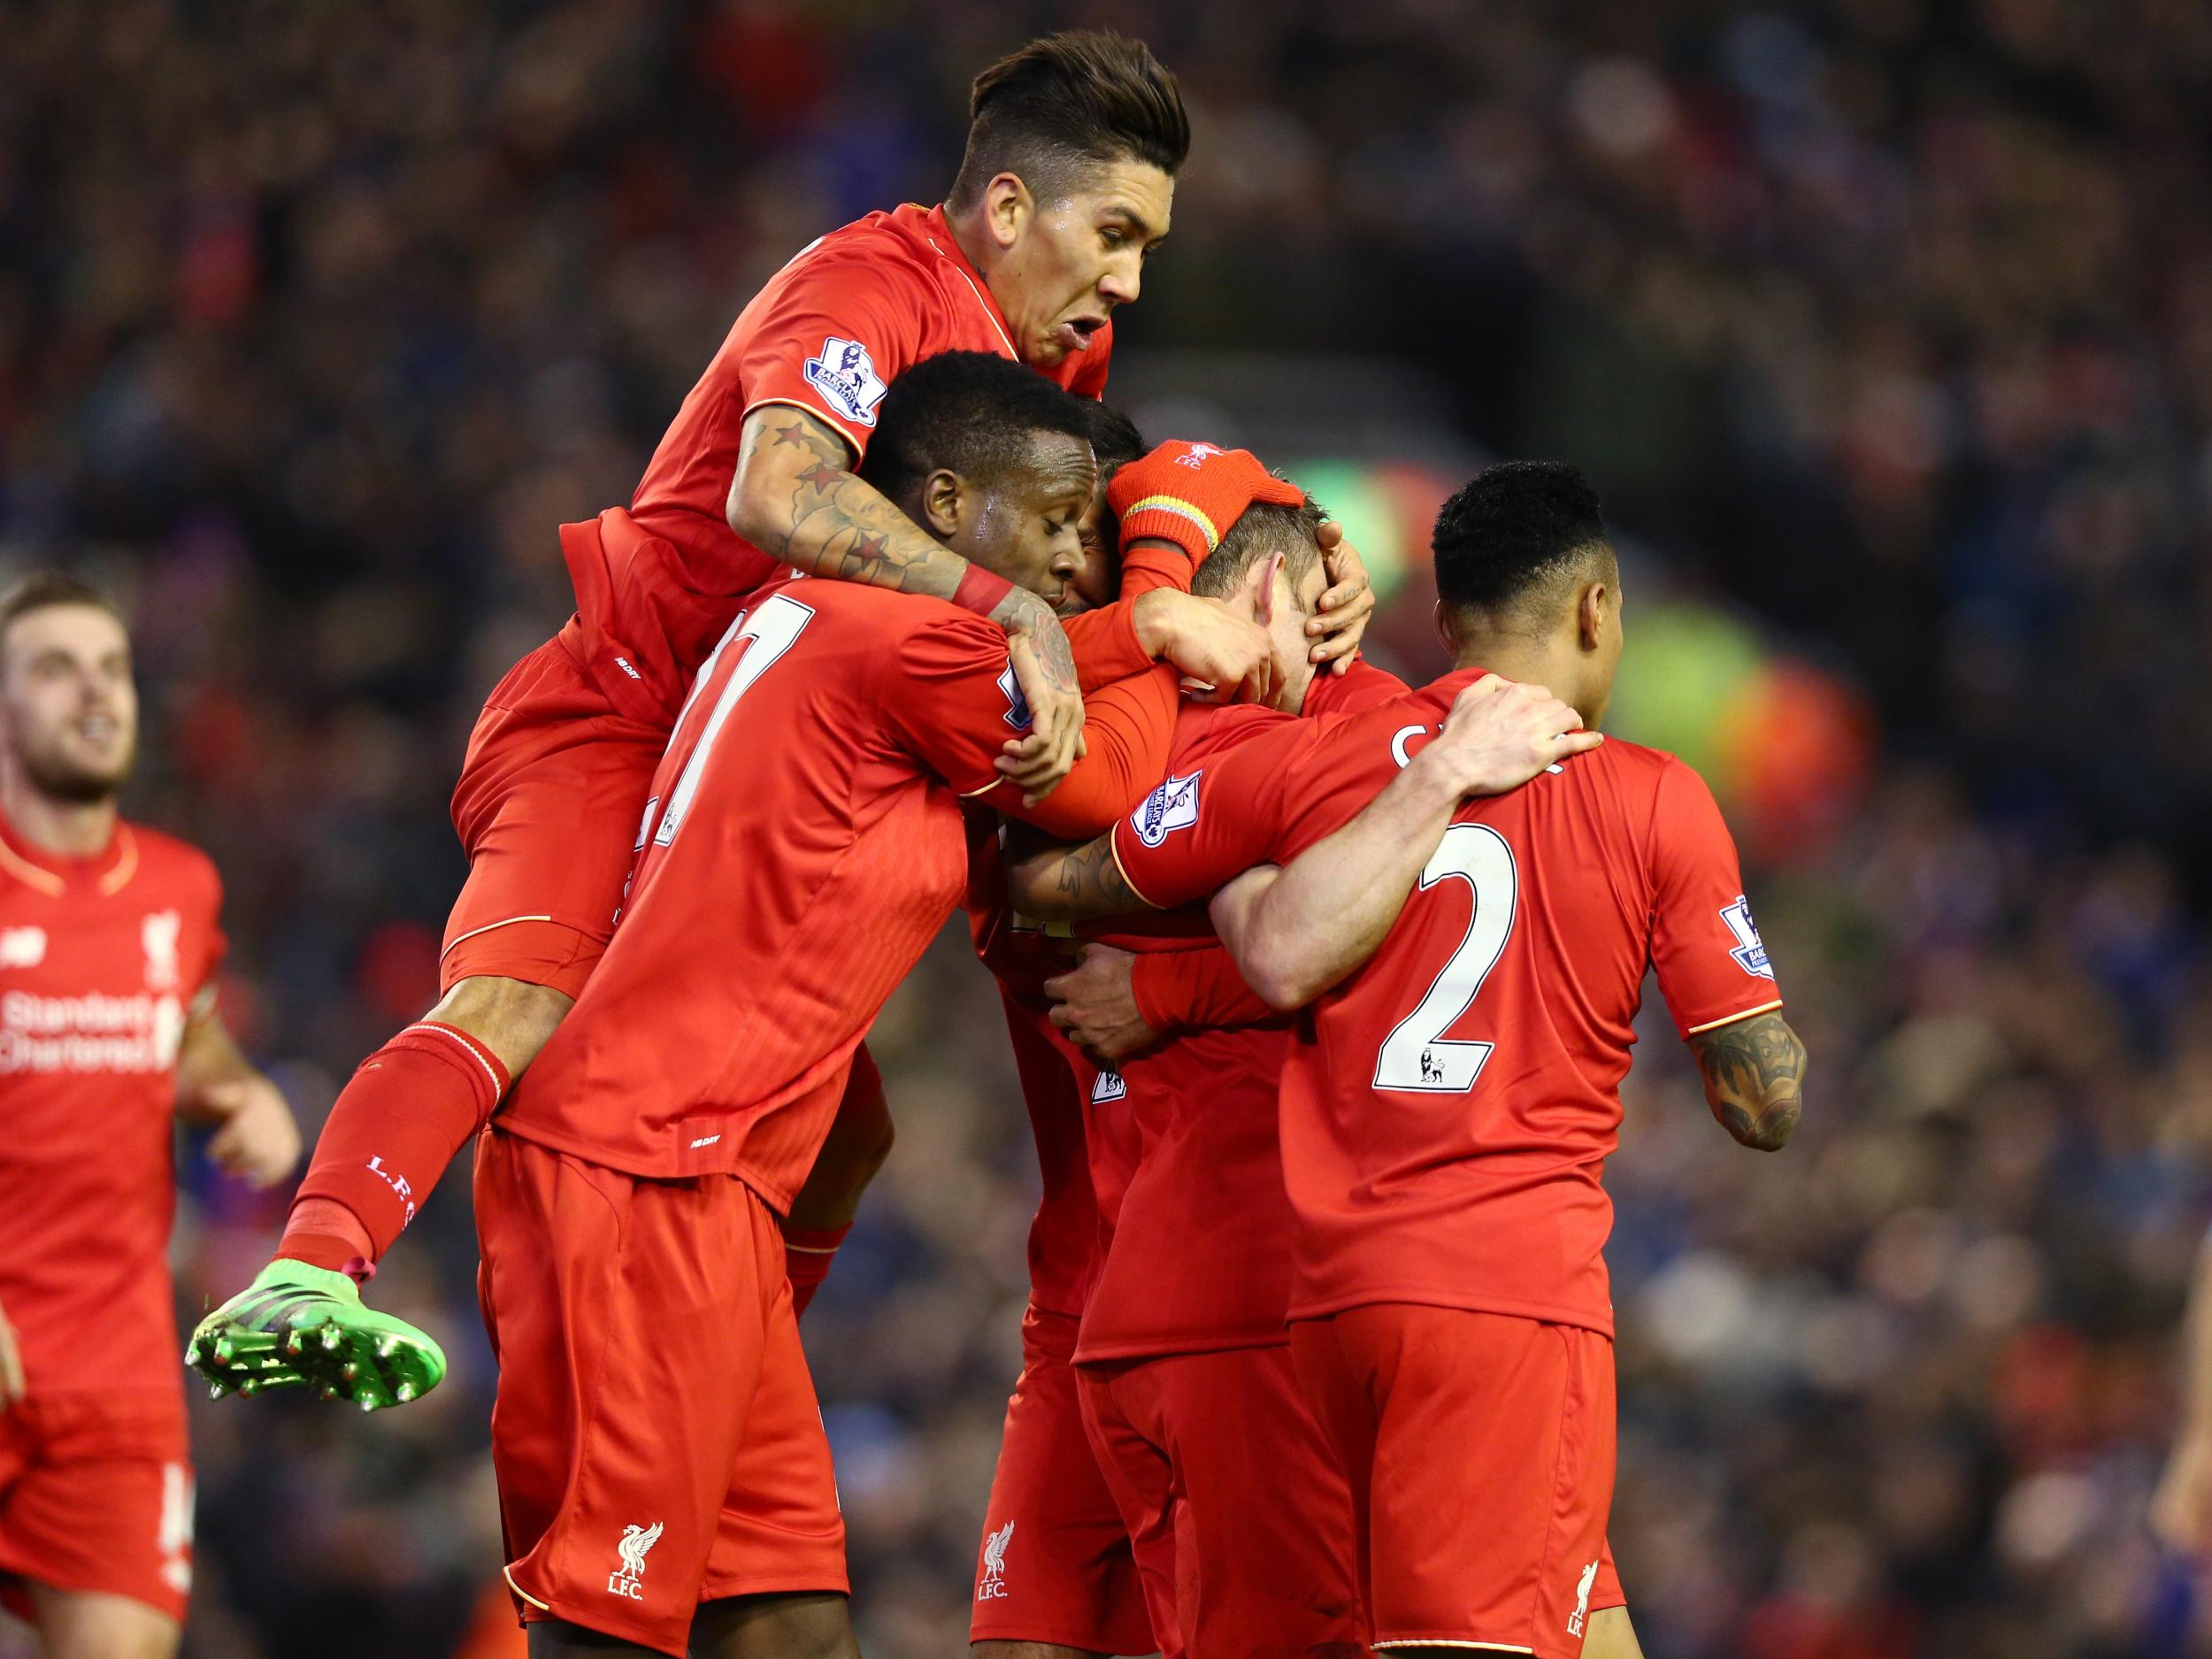
[(1071, 29), (1031, 40), (975, 77), (949, 199), (967, 208), (991, 179), (1013, 173), (1040, 201), (1062, 201), (1086, 164), (1135, 159), (1175, 177), (1188, 155), (1183, 93), (1152, 49)]

